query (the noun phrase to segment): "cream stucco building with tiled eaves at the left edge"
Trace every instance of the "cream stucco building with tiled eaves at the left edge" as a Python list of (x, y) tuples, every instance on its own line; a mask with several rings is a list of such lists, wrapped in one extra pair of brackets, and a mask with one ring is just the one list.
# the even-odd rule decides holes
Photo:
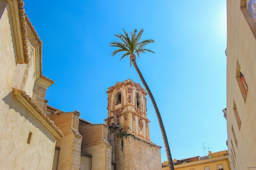
[(21, 0), (0, 0), (0, 169), (52, 169), (63, 133), (45, 114), (54, 82), (42, 75), (42, 42)]

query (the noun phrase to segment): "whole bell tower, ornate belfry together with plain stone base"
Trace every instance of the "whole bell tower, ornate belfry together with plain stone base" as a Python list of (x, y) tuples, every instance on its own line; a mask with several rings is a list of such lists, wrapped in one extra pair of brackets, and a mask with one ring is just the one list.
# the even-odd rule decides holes
[(108, 141), (112, 168), (116, 170), (161, 170), (160, 146), (150, 141), (146, 91), (127, 79), (108, 88)]

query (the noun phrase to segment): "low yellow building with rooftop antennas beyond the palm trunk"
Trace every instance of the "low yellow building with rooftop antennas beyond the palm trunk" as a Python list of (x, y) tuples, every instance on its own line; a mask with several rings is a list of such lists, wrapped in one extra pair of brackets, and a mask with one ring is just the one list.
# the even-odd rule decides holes
[[(229, 164), (229, 152), (226, 150), (211, 153), (204, 157), (191, 157), (186, 159), (174, 159), (175, 170), (231, 170)], [(168, 170), (168, 162), (164, 161), (162, 170)]]

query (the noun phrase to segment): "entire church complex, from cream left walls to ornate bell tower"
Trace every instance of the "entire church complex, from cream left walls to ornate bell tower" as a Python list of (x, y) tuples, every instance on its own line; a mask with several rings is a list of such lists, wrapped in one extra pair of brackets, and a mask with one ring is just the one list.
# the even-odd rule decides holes
[(23, 7), (0, 0), (0, 169), (161, 170), (140, 84), (108, 88), (106, 124), (47, 104), (54, 81), (42, 74), (43, 43)]

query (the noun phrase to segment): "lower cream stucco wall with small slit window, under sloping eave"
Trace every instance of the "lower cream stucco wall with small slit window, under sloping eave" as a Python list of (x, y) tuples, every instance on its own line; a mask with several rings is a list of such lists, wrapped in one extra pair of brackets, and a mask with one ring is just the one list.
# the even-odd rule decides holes
[(1, 100), (0, 117), (0, 169), (51, 169), (56, 137), (12, 93)]

